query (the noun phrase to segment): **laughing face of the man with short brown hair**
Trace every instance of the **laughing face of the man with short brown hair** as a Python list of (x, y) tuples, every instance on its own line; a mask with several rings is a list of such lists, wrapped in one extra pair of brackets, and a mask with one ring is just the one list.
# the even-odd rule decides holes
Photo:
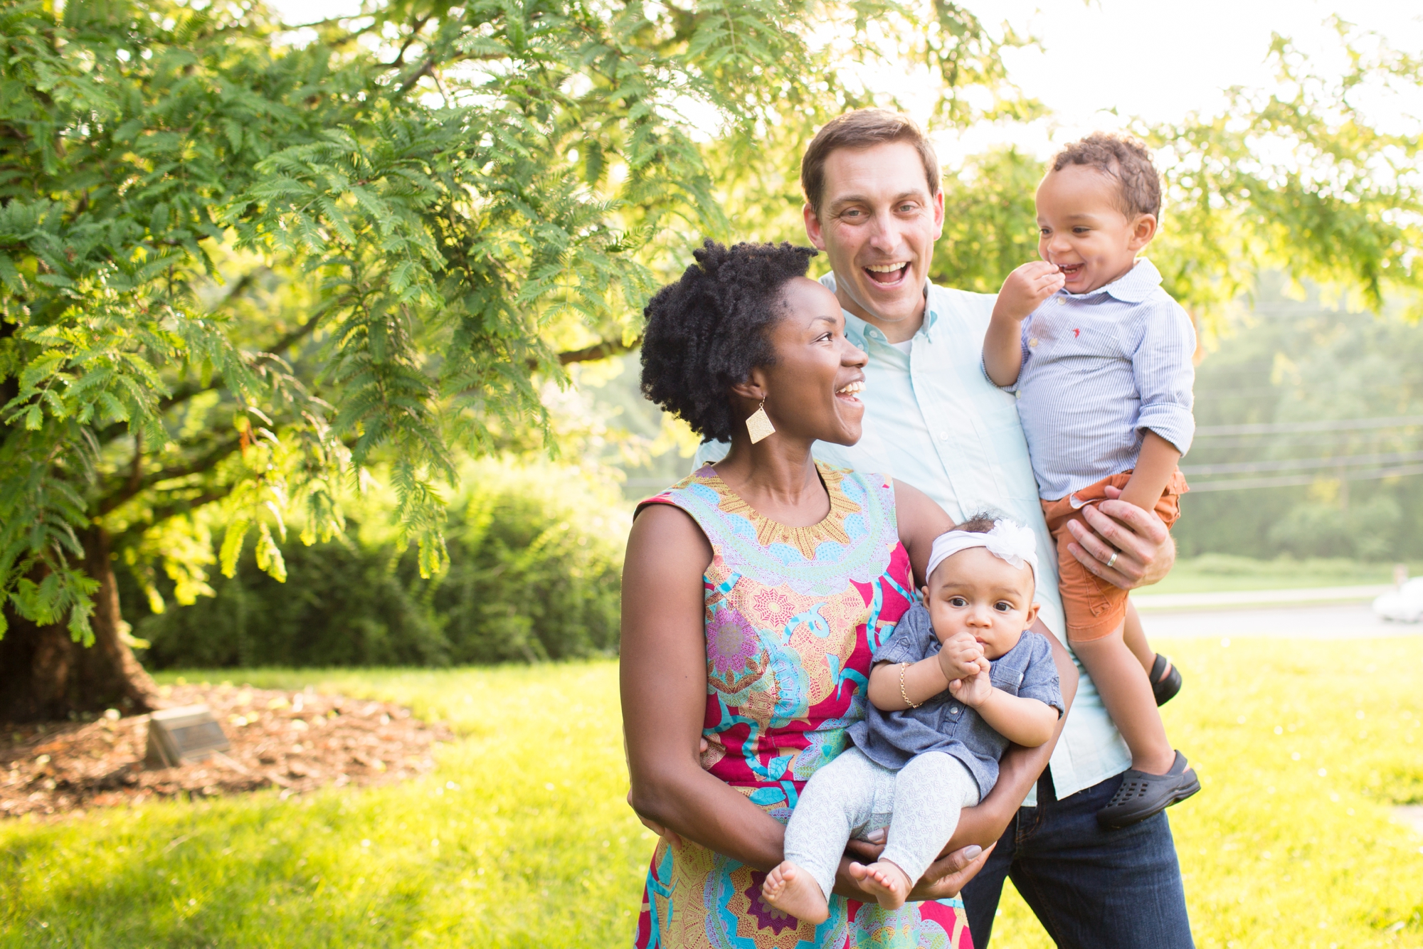
[(943, 233), (943, 192), (929, 193), (914, 145), (831, 152), (820, 213), (807, 203), (804, 215), (805, 233), (835, 270), (840, 304), (891, 341), (914, 336), (933, 242)]

